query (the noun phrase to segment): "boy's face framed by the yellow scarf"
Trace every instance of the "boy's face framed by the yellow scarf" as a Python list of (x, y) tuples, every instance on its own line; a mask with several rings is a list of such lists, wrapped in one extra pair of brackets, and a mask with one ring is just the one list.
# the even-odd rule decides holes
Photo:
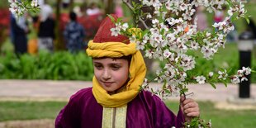
[(127, 59), (93, 59), (94, 75), (107, 92), (121, 88), (129, 77)]

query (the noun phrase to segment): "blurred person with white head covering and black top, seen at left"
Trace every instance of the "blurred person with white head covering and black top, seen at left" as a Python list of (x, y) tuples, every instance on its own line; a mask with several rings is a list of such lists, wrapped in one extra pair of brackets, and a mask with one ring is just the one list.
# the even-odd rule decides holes
[(40, 10), (40, 23), (38, 29), (39, 50), (54, 50), (55, 20), (50, 5), (42, 5)]

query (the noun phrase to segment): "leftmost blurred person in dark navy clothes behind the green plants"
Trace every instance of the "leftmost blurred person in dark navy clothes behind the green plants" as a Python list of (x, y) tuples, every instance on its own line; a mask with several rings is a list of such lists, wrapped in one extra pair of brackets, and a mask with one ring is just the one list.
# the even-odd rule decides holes
[[(14, 16), (14, 14), (13, 14)], [(26, 22), (27, 15), (21, 17), (13, 17), (11, 20), (12, 40), (14, 51), (17, 55), (25, 54), (27, 52), (27, 33), (29, 28)]]

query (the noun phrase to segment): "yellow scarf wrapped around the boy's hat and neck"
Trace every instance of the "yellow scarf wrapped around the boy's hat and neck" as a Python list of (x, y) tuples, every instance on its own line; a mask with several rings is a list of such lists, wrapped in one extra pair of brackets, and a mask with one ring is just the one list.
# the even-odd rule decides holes
[(132, 55), (129, 69), (130, 81), (126, 85), (126, 91), (110, 95), (97, 82), (95, 76), (92, 78), (92, 94), (97, 103), (103, 107), (122, 107), (138, 95), (140, 85), (145, 78), (146, 67), (140, 50), (136, 50), (135, 43), (128, 45), (121, 42), (94, 43), (90, 40), (86, 51), (92, 58), (118, 58)]

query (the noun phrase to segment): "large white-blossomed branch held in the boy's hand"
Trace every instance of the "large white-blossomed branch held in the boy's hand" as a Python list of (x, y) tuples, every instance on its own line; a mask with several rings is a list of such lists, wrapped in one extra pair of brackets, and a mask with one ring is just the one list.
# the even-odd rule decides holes
[[(155, 93), (161, 96), (169, 96), (172, 93), (187, 92), (187, 83), (239, 83), (247, 80), (245, 75), (251, 72), (249, 68), (239, 70), (237, 74), (228, 75), (226, 69), (220, 69), (216, 73), (210, 72), (207, 76), (187, 76), (187, 71), (195, 68), (196, 56), (188, 55), (188, 50), (199, 50), (205, 59), (212, 59), (219, 48), (225, 48), (225, 38), (235, 27), (233, 22), (245, 15), (244, 2), (235, 0), (140, 0), (139, 3), (130, 3), (123, 0), (134, 13), (135, 19), (143, 22), (145, 31), (130, 29), (128, 25), (118, 19), (116, 27), (111, 28), (111, 35), (119, 34), (130, 37), (130, 41), (137, 44), (138, 50), (144, 50), (149, 59), (160, 59), (165, 62), (163, 69), (156, 72), (154, 79), (164, 83), (163, 88)], [(207, 12), (222, 10), (228, 7), (228, 16), (224, 21), (214, 23), (212, 30), (197, 31), (196, 7), (206, 7)], [(142, 12), (142, 7), (154, 7), (154, 12)], [(148, 26), (145, 21), (151, 21)], [(140, 31), (140, 32), (138, 32)], [(134, 34), (134, 33), (140, 34)], [(149, 81), (145, 80), (143, 88), (149, 88)]]

